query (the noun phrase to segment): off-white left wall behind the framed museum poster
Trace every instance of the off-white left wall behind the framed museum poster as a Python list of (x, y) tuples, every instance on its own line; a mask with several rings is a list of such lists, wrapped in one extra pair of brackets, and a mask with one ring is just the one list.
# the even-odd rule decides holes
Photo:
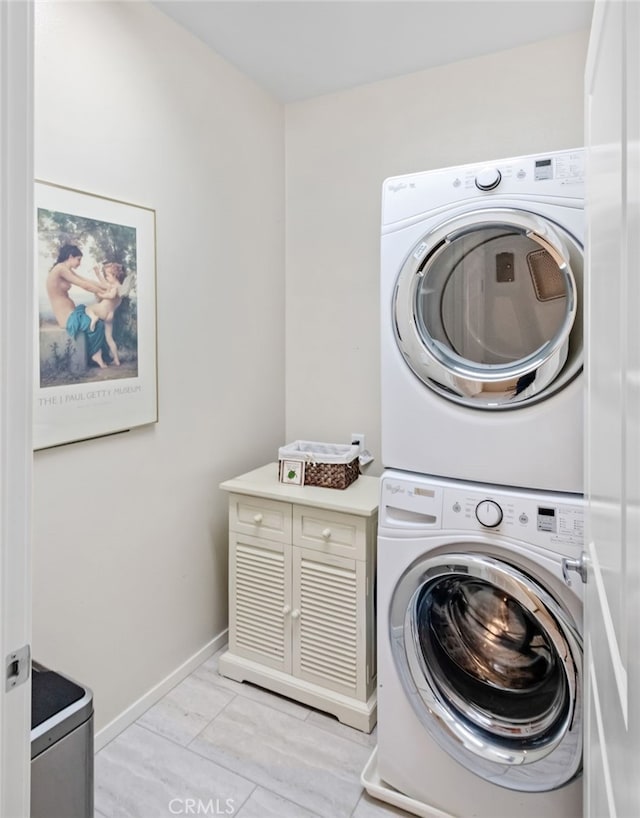
[(284, 440), (283, 109), (148, 4), (36, 26), (36, 177), (157, 212), (160, 422), (35, 455), (34, 656), (100, 729), (224, 631), (217, 486)]

